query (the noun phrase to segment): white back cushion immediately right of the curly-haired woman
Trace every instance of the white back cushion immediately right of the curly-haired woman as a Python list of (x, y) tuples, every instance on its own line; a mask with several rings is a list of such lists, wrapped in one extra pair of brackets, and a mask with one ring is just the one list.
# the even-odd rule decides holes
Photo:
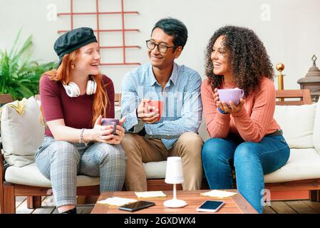
[(274, 119), (284, 131), (284, 138), (290, 148), (314, 147), (314, 117), (316, 104), (276, 105)]

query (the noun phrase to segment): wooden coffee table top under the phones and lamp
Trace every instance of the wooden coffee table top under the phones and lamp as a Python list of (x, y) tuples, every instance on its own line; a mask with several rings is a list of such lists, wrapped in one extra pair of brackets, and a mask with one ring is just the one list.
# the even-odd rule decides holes
[(187, 206), (182, 208), (167, 208), (163, 202), (167, 199), (172, 199), (172, 191), (163, 191), (167, 197), (153, 197), (153, 198), (138, 198), (135, 192), (103, 192), (99, 200), (107, 199), (108, 197), (124, 197), (130, 199), (146, 200), (155, 202), (155, 206), (140, 209), (136, 212), (126, 212), (118, 209), (117, 206), (96, 203), (91, 214), (196, 214), (205, 212), (197, 212), (196, 208), (206, 200), (223, 200), (224, 205), (215, 214), (257, 214), (257, 211), (247, 202), (237, 190), (227, 190), (229, 192), (237, 192), (236, 195), (226, 198), (205, 197), (200, 195), (201, 192), (208, 192), (210, 190), (197, 191), (177, 191), (177, 199), (183, 199), (187, 202)]

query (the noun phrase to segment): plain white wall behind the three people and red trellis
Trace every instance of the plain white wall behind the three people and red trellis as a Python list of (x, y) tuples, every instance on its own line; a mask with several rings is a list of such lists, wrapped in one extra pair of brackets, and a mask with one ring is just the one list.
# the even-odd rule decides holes
[[(96, 1), (73, 0), (75, 11), (94, 11)], [(139, 15), (125, 16), (125, 28), (138, 28), (140, 32), (126, 33), (127, 61), (148, 61), (145, 40), (159, 19), (172, 16), (185, 23), (189, 30), (187, 45), (177, 63), (183, 63), (204, 76), (204, 51), (212, 33), (220, 26), (233, 24), (246, 26), (257, 32), (264, 42), (274, 66), (285, 65), (284, 88), (299, 88), (296, 81), (306, 75), (311, 67), (311, 56), (320, 59), (320, 1), (319, 0), (124, 0), (125, 11), (139, 11)], [(33, 59), (56, 61), (53, 43), (58, 30), (69, 29), (68, 16), (48, 20), (47, 9), (56, 6), (58, 13), (70, 11), (69, 0), (0, 0), (0, 49), (9, 49), (20, 28), (22, 40), (33, 34)], [(120, 11), (120, 0), (100, 0), (100, 9)], [(96, 28), (95, 16), (78, 16), (75, 27)], [(100, 28), (120, 28), (120, 16), (101, 16)], [(122, 45), (118, 33), (103, 34), (103, 45)], [(103, 51), (103, 61), (122, 61), (120, 51)], [(320, 61), (317, 61), (320, 67)], [(103, 66), (103, 73), (120, 91), (124, 74), (136, 66)], [(277, 80), (275, 81), (277, 87)]]

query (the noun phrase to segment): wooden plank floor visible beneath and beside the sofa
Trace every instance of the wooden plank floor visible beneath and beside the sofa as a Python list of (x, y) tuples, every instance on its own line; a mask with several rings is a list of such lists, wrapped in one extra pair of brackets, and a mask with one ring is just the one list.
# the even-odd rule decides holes
[[(90, 214), (93, 204), (77, 206), (78, 214)], [(58, 210), (53, 196), (43, 197), (42, 206), (36, 209), (26, 207), (26, 197), (16, 197), (17, 214), (56, 214)], [(320, 202), (309, 200), (272, 201), (270, 206), (264, 207), (263, 214), (320, 214)]]

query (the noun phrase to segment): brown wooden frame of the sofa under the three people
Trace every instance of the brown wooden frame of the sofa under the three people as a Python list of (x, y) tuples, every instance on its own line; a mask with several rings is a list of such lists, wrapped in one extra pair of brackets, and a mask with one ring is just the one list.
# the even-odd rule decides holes
[[(276, 96), (280, 100), (277, 105), (302, 105), (311, 104), (311, 96), (309, 90), (277, 90)], [(299, 100), (284, 100), (285, 98), (299, 98)], [(115, 103), (120, 105), (121, 94), (115, 94)], [(0, 104), (13, 101), (11, 95), (0, 95)], [(0, 142), (0, 149), (2, 145)], [(41, 207), (41, 196), (52, 195), (51, 189), (48, 187), (33, 187), (27, 185), (16, 185), (4, 180), (6, 167), (4, 166), (4, 157), (0, 153), (0, 213), (15, 213), (16, 196), (27, 197), (27, 207)], [(207, 188), (207, 183), (202, 182), (202, 189)], [(320, 178), (311, 180), (297, 180), (291, 182), (269, 183), (265, 185), (266, 189), (271, 192), (291, 192), (291, 191), (309, 191), (309, 199), (311, 201), (320, 202)], [(177, 186), (182, 190), (182, 186)], [(172, 190), (172, 185), (167, 185), (163, 179), (148, 180), (148, 190)], [(78, 187), (77, 195), (100, 195), (99, 186)]]

